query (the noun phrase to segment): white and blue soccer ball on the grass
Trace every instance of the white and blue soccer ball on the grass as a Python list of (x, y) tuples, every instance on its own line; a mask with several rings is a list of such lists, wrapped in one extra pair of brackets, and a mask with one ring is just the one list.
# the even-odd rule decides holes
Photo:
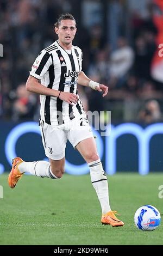
[(160, 212), (152, 205), (143, 205), (135, 212), (134, 221), (138, 229), (152, 231), (160, 224)]

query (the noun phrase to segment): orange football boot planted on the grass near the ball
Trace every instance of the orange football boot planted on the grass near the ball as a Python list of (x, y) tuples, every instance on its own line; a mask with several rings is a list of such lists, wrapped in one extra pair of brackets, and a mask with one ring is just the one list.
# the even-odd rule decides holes
[(124, 223), (115, 216), (117, 211), (109, 211), (106, 214), (103, 214), (101, 217), (101, 223), (105, 225), (112, 225), (112, 227), (123, 226)]

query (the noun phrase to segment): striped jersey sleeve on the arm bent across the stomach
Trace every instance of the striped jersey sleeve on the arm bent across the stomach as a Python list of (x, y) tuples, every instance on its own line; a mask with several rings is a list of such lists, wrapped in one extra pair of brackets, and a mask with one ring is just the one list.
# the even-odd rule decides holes
[(31, 76), (41, 80), (43, 76), (46, 74), (49, 66), (52, 65), (51, 55), (43, 50), (39, 56), (35, 59), (35, 62), (29, 72)]

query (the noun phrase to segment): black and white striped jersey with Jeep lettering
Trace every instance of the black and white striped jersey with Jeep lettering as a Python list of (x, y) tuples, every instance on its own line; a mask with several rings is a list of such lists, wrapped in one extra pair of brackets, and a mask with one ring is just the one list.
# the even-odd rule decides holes
[[(40, 52), (29, 74), (41, 80), (45, 87), (78, 94), (77, 80), (81, 70), (82, 50), (72, 46), (71, 52), (66, 51), (55, 41)], [(40, 121), (47, 124), (60, 125), (74, 117), (86, 116), (80, 99), (71, 106), (58, 97), (40, 95), (40, 102)]]

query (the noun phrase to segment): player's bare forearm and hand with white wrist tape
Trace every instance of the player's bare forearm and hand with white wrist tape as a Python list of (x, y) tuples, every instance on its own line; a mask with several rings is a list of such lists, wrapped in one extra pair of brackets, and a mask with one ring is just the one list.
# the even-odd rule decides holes
[(81, 86), (91, 87), (93, 90), (98, 90), (98, 92), (103, 92), (103, 97), (108, 93), (108, 86), (104, 86), (104, 84), (90, 80), (83, 71), (79, 72), (78, 84)]

